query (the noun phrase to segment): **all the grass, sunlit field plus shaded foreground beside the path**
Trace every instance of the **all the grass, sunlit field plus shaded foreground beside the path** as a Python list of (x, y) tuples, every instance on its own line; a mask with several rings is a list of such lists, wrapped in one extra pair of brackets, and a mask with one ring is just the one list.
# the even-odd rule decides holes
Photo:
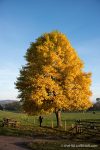
[[(38, 140), (33, 143), (29, 143), (28, 146), (31, 149), (39, 149), (39, 150), (65, 150), (65, 149), (81, 149), (84, 148), (73, 148), (73, 147), (65, 147), (66, 144), (98, 144), (100, 143), (100, 134), (91, 139), (91, 135), (84, 134), (81, 135), (69, 135), (67, 134), (67, 130), (71, 127), (72, 124), (75, 123), (75, 120), (99, 120), (100, 112), (76, 112), (76, 113), (62, 113), (62, 122), (63, 128), (56, 128), (56, 118), (55, 114), (43, 115), (43, 124), (42, 128), (39, 127), (38, 116), (28, 116), (23, 113), (14, 113), (8, 111), (0, 111), (0, 122), (3, 118), (11, 118), (20, 122), (19, 128), (11, 128), (11, 127), (0, 127), (0, 135), (11, 135), (11, 136), (32, 136), (35, 138), (41, 138), (47, 140)], [(65, 121), (66, 121), (66, 131), (65, 131)], [(52, 128), (52, 122), (53, 127)], [(81, 139), (81, 140), (80, 140)], [(88, 139), (88, 140), (87, 140)], [(90, 140), (89, 140), (90, 139)], [(96, 148), (99, 149), (100, 147)], [(87, 147), (85, 150), (92, 148)], [(94, 149), (94, 148), (93, 148)]]

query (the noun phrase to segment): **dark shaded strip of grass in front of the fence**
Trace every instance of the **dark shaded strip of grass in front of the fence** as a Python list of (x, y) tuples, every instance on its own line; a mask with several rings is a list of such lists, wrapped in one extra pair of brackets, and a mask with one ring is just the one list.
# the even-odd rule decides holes
[[(33, 127), (32, 129), (27, 128), (8, 128), (8, 127), (0, 127), (0, 135), (9, 135), (9, 136), (30, 136), (34, 137), (34, 139), (42, 139), (42, 140), (48, 140), (55, 141), (52, 143), (52, 146), (54, 143), (57, 143), (57, 148), (59, 147), (59, 142), (56, 141), (64, 141), (66, 143), (90, 143), (90, 144), (96, 144), (100, 146), (100, 133), (98, 135), (91, 134), (90, 133), (73, 133), (70, 131), (63, 131), (59, 128), (51, 128), (47, 126), (43, 127)], [(16, 144), (23, 144), (25, 143), (16, 143)], [(50, 144), (50, 143), (48, 143)], [(61, 142), (62, 144), (62, 142)], [(56, 148), (56, 145), (54, 145)], [(99, 147), (100, 148), (100, 147)], [(60, 149), (60, 148), (59, 148)], [(86, 150), (86, 149), (85, 149)]]

